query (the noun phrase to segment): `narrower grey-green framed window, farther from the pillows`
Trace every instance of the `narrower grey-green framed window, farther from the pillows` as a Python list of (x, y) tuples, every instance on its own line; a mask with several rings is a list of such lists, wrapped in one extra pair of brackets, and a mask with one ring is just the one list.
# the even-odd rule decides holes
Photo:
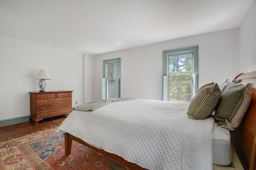
[(101, 99), (120, 98), (120, 58), (103, 60)]

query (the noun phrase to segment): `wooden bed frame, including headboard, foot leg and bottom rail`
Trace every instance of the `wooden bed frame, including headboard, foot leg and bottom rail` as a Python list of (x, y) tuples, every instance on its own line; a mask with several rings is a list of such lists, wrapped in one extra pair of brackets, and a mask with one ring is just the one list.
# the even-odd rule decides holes
[[(252, 83), (250, 91), (252, 92), (252, 99), (250, 106), (246, 111), (246, 114), (238, 128), (234, 131), (230, 131), (231, 141), (234, 148), (240, 158), (242, 165), (245, 170), (256, 170), (256, 71), (249, 73), (243, 73), (238, 75), (235, 79), (242, 79), (243, 84)], [(72, 140), (75, 140), (89, 148), (92, 148), (98, 152), (106, 154), (115, 160), (123, 162), (128, 166), (136, 168), (138, 170), (145, 170), (144, 168), (124, 160), (124, 158), (106, 152), (105, 150), (98, 149), (90, 144), (87, 144), (82, 139), (77, 138), (69, 133), (65, 133), (65, 154), (69, 155), (71, 153)]]

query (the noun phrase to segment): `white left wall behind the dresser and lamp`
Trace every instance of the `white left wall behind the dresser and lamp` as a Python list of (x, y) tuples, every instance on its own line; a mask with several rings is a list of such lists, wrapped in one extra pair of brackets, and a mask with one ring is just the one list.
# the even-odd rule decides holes
[(72, 105), (82, 104), (83, 55), (0, 36), (0, 120), (30, 115), (28, 91), (39, 91), (34, 76), (45, 69), (46, 91), (72, 90)]

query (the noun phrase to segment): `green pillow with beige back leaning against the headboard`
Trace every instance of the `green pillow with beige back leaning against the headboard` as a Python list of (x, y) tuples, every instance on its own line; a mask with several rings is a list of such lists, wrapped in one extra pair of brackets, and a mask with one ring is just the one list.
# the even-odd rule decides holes
[(250, 83), (243, 85), (238, 80), (224, 89), (214, 115), (218, 127), (234, 130), (240, 125), (250, 105), (250, 87)]

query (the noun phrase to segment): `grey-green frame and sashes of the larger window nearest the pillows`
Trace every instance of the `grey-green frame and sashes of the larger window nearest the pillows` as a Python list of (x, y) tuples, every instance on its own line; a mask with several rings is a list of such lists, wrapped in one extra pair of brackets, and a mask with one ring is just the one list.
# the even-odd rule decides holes
[[(191, 76), (170, 76), (170, 57), (179, 53), (191, 53), (192, 52), (192, 75)], [(198, 45), (191, 47), (183, 47), (177, 49), (169, 49), (163, 51), (163, 101), (170, 100), (170, 89), (169, 82), (172, 77), (192, 77), (192, 89), (191, 99), (194, 97), (198, 90), (198, 79), (199, 79), (199, 62), (198, 62)]]

